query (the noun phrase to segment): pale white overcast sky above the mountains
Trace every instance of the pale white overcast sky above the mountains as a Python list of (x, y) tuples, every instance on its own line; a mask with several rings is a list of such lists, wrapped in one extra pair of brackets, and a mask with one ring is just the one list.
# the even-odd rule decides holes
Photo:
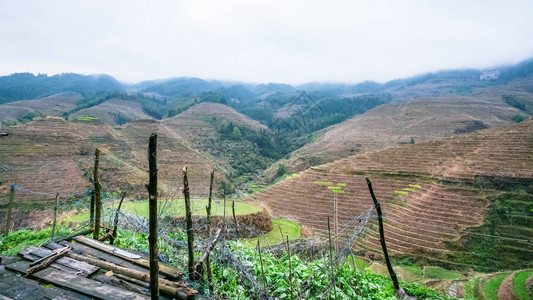
[(533, 57), (533, 1), (0, 0), (0, 74), (355, 83)]

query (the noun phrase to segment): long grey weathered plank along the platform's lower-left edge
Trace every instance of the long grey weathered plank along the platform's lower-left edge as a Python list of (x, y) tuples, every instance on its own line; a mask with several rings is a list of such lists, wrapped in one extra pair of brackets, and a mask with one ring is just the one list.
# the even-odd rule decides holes
[[(25, 273), (29, 268), (28, 261), (7, 265), (6, 269)], [(97, 282), (84, 277), (56, 271), (52, 268), (40, 270), (30, 275), (56, 286), (67, 288), (95, 299), (149, 299), (149, 297), (129, 292), (109, 284)]]

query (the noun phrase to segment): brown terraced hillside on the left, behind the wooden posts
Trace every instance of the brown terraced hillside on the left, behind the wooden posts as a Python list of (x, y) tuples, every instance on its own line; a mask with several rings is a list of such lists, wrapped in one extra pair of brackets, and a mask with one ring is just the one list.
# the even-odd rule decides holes
[[(51, 208), (55, 193), (61, 193), (61, 203), (65, 203), (73, 201), (70, 195), (84, 194), (91, 188), (95, 147), (102, 151), (100, 181), (104, 191), (123, 190), (131, 197), (146, 196), (146, 151), (152, 132), (158, 133), (161, 197), (181, 196), (184, 165), (189, 167), (191, 192), (204, 193), (209, 186), (209, 173), (216, 166), (208, 154), (191, 148), (187, 140), (154, 120), (113, 128), (45, 118), (4, 130), (10, 134), (0, 140), (0, 220), (4, 218), (10, 184), (44, 193), (16, 191), (16, 207), (22, 207), (15, 213), (15, 220), (20, 220), (15, 222), (18, 228), (46, 221), (27, 216), (35, 208)], [(223, 178), (223, 173), (217, 173)]]

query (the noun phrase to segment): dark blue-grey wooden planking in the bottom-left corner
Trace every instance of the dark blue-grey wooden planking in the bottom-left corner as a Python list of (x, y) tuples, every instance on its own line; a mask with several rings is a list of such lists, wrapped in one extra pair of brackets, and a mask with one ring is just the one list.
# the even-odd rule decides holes
[[(55, 286), (43, 286), (36, 281), (7, 271), (0, 266), (0, 300), (3, 299), (81, 299), (90, 297)], [(5, 298), (2, 298), (4, 296)]]

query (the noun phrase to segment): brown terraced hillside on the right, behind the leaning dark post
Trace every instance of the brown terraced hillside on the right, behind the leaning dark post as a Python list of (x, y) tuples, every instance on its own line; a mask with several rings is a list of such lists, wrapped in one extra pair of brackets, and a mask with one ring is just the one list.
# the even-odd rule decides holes
[[(351, 156), (292, 176), (253, 200), (320, 233), (333, 216), (328, 186), (345, 191), (337, 196), (339, 223), (346, 224), (372, 205), (365, 177), (384, 207), (387, 244), (397, 257), (479, 269), (531, 266), (533, 247), (522, 240), (531, 239), (533, 224), (533, 120)], [(521, 241), (474, 243), (482, 237), (461, 231)], [(356, 249), (381, 253), (375, 224)]]

